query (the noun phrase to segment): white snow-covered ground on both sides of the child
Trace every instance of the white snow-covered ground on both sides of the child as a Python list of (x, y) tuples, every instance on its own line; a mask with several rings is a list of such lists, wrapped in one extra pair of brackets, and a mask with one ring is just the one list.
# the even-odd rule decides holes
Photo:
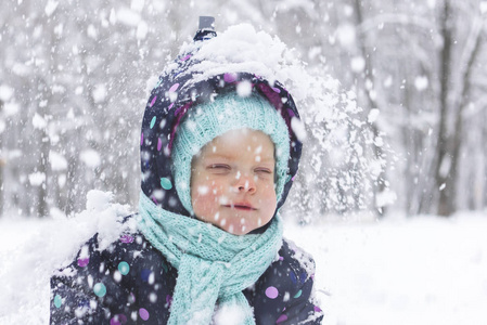
[[(50, 271), (92, 231), (113, 226), (113, 211), (100, 211), (0, 219), (0, 324), (48, 324)], [(285, 229), (316, 259), (323, 324), (487, 324), (487, 217)]]

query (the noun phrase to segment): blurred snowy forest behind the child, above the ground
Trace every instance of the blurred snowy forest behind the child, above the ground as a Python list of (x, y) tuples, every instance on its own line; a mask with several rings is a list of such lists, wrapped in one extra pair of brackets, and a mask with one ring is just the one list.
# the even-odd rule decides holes
[(218, 31), (251, 23), (277, 35), (322, 77), (321, 95), (302, 103), (308, 136), (294, 208), (482, 209), (486, 10), (480, 0), (8, 0), (2, 211), (69, 214), (93, 187), (134, 205), (148, 91), (200, 14), (215, 15)]

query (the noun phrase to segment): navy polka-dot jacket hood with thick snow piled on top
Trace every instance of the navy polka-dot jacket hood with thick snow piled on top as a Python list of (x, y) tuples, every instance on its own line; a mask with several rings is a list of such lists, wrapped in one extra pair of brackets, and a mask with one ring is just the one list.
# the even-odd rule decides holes
[(183, 44), (151, 91), (140, 141), (141, 187), (155, 205), (190, 216), (182, 206), (172, 177), (171, 151), (178, 126), (191, 107), (220, 93), (255, 91), (267, 99), (285, 120), (291, 152), (287, 179), (278, 209), (284, 204), (296, 176), (302, 142), (293, 131), (299, 114), (290, 92), (275, 80), (285, 46), (249, 25), (230, 27), (219, 36), (208, 29)]

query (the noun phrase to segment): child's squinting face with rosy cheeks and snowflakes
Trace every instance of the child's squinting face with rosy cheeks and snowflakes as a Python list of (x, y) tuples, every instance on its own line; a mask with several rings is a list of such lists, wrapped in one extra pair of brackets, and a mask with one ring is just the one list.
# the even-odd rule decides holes
[(260, 131), (239, 129), (215, 138), (194, 156), (191, 202), (198, 220), (244, 235), (275, 211), (274, 145)]

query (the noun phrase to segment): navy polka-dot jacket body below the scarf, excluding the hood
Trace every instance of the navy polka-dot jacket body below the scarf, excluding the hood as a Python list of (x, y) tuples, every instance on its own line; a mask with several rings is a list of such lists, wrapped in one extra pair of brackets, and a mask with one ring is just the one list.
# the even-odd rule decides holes
[[(256, 324), (321, 324), (310, 301), (313, 268), (309, 256), (284, 242), (275, 261), (243, 291)], [(51, 278), (51, 324), (166, 324), (176, 278), (177, 270), (143, 235), (124, 234), (105, 250), (95, 235)], [(269, 287), (279, 292), (273, 299)]]

